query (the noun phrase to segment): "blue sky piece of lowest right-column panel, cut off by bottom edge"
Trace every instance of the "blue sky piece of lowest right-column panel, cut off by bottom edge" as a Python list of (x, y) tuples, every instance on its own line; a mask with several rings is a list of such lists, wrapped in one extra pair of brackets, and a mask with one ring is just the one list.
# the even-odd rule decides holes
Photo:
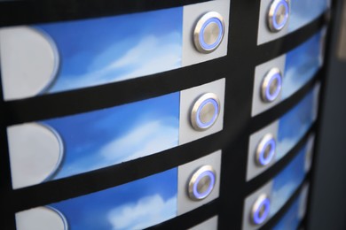
[(274, 226), (273, 230), (291, 230), (297, 229), (300, 218), (299, 218), (299, 202), (300, 197), (295, 199), (295, 202), (292, 203), (289, 210), (285, 213), (285, 215), (279, 220), (279, 222)]

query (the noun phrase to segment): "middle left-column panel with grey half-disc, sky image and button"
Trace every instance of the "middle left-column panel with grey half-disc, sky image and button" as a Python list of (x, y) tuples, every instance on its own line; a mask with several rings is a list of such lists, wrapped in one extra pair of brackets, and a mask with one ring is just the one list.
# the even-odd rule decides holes
[(215, 134), (224, 125), (224, 85), (221, 79), (136, 103), (9, 126), (12, 187), (87, 173)]

